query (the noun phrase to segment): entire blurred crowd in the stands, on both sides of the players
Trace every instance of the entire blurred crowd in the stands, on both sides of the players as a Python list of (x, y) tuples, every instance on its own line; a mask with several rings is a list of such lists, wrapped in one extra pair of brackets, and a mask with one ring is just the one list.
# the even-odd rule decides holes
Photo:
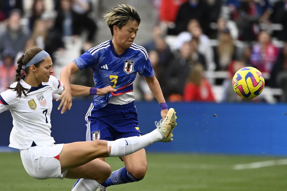
[[(252, 66), (263, 73), (266, 89), (281, 90), (271, 96), (287, 101), (287, 0), (148, 3), (157, 10), (157, 19), (151, 40), (139, 45), (149, 53), (166, 100), (245, 101), (234, 93), (232, 77), (238, 69)], [(14, 81), (15, 60), (26, 47), (46, 50), (59, 77), (62, 64), (97, 45), (100, 4), (101, 0), (1, 0), (0, 92)], [(94, 85), (90, 70), (73, 75), (71, 81)], [(137, 100), (154, 100), (141, 76), (134, 87)], [(270, 99), (259, 96), (251, 101)]]

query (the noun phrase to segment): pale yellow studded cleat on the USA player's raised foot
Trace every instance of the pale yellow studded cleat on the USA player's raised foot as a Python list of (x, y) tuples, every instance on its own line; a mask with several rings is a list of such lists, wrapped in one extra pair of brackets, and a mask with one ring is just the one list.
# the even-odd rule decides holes
[(176, 112), (174, 111), (173, 108), (170, 108), (167, 112), (167, 116), (164, 118), (164, 121), (159, 121), (159, 123), (155, 123), (157, 126), (157, 130), (161, 133), (163, 139), (161, 142), (170, 142), (172, 141), (172, 131), (174, 127), (177, 125), (175, 122), (175, 119), (177, 118), (175, 116)]

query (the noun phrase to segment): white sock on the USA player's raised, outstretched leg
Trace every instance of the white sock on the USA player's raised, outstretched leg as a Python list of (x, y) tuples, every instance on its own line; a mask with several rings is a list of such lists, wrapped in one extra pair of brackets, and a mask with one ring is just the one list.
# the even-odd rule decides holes
[(139, 137), (127, 137), (115, 141), (108, 141), (108, 150), (109, 147), (111, 147), (109, 156), (117, 157), (135, 153), (154, 142), (161, 141), (162, 138), (161, 133), (155, 129), (152, 132)]

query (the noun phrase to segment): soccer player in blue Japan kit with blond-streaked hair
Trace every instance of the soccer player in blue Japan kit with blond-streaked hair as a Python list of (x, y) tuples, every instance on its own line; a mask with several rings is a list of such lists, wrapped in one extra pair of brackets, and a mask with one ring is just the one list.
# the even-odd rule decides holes
[[(116, 140), (129, 136), (141, 136), (137, 111), (134, 105), (133, 81), (137, 73), (144, 76), (150, 90), (161, 107), (161, 117), (168, 112), (167, 104), (144, 47), (133, 43), (141, 22), (137, 10), (121, 4), (104, 15), (111, 30), (112, 39), (91, 48), (76, 58), (61, 71), (61, 81), (65, 84), (62, 93), (61, 113), (71, 108), (71, 74), (84, 68), (91, 68), (96, 88), (111, 85), (116, 92), (105, 96), (94, 96), (94, 101), (86, 114), (86, 141)], [(121, 157), (125, 167), (120, 168), (102, 184), (140, 181), (147, 170), (145, 150)], [(104, 160), (104, 158), (103, 158)], [(77, 184), (77, 183), (76, 183)]]

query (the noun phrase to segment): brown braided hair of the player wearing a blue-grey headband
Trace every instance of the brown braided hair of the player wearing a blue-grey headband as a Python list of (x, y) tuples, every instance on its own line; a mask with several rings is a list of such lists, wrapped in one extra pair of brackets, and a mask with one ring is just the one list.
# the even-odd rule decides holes
[[(8, 89), (10, 90), (14, 90), (17, 92), (18, 96), (17, 97), (21, 97), (22, 96), (22, 93), (27, 96), (26, 92), (25, 91), (28, 91), (27, 88), (24, 88), (21, 84), (20, 84), (20, 80), (22, 79), (22, 70), (25, 71), (25, 74), (28, 75), (29, 73), (29, 68), (30, 67), (25, 67), (26, 64), (29, 63), (30, 60), (32, 60), (32, 58), (34, 58), (34, 56), (36, 56), (36, 54), (38, 54), (39, 52), (41, 52), (43, 49), (38, 47), (38, 46), (34, 46), (34, 47), (29, 47), (26, 52), (20, 56), (20, 58), (18, 58), (17, 60), (17, 69), (16, 69), (16, 78), (15, 78), (15, 81), (17, 81), (17, 85), (16, 87), (14, 88), (11, 88), (11, 87), (8, 87)], [(39, 61), (38, 63), (36, 64), (33, 64), (35, 67), (39, 67), (40, 64), (43, 62), (44, 60), (42, 61)]]

